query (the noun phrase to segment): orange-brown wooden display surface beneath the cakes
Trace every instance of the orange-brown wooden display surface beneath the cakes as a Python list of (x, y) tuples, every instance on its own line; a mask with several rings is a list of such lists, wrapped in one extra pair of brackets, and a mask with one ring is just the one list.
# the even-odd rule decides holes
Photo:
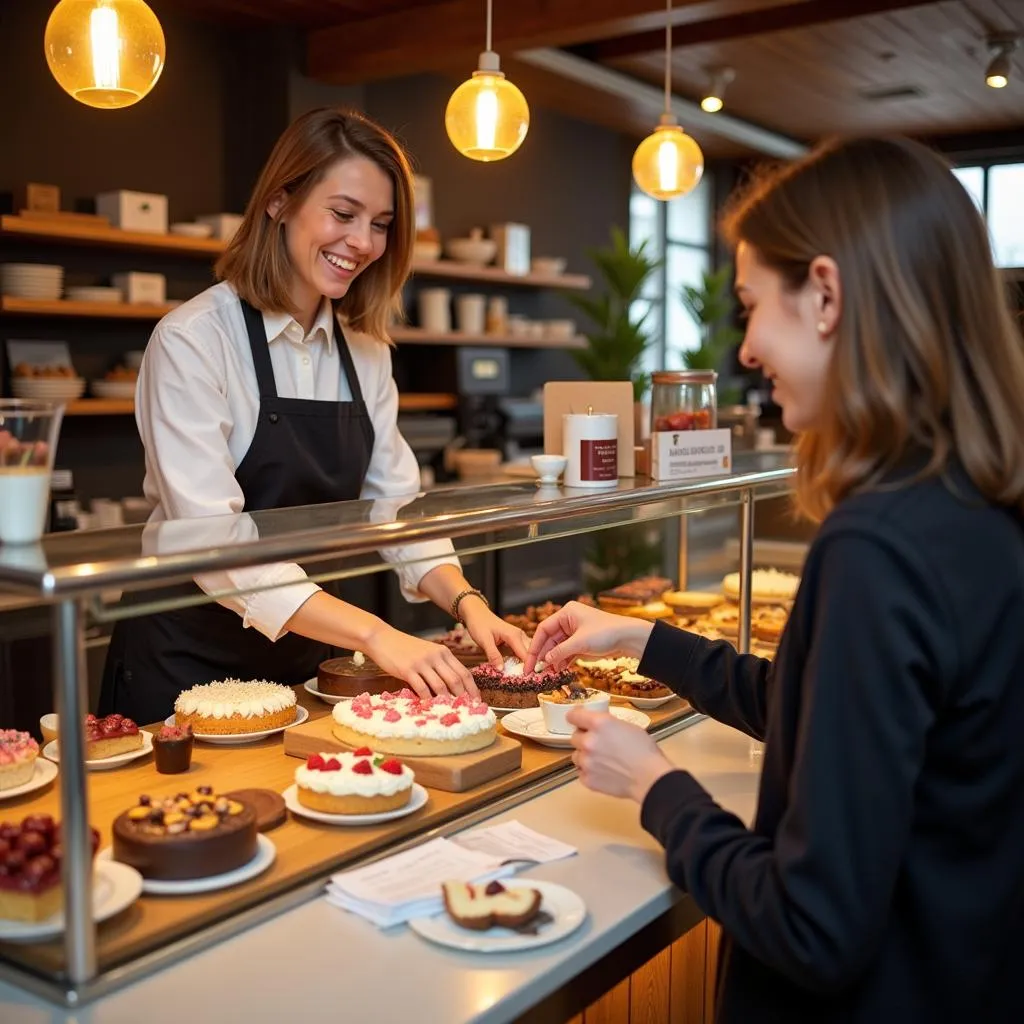
[[(301, 705), (311, 718), (330, 714), (331, 708), (297, 688)], [(667, 710), (647, 712), (652, 725), (662, 725), (690, 713), (683, 700)], [(189, 933), (253, 907), (264, 900), (326, 877), (343, 865), (450, 822), (499, 797), (536, 782), (569, 764), (569, 752), (523, 742), (522, 767), (468, 793), (430, 790), (421, 810), (382, 825), (338, 826), (289, 815), (288, 821), (267, 833), (278, 850), (269, 870), (250, 882), (199, 896), (142, 896), (133, 906), (99, 926), (97, 954), (100, 971), (143, 955)], [(140, 794), (158, 796), (197, 785), (216, 792), (265, 787), (283, 792), (294, 781), (300, 762), (284, 752), (282, 736), (240, 746), (197, 742), (191, 770), (184, 775), (160, 775), (153, 757), (123, 768), (90, 772), (89, 820), (100, 831), (100, 849), (110, 846), (111, 823)], [(42, 794), (0, 804), (0, 820), (20, 820), (27, 814), (45, 813), (59, 818), (58, 782)], [(0, 955), (46, 975), (59, 974), (63, 945), (59, 941), (20, 945), (0, 943)]]

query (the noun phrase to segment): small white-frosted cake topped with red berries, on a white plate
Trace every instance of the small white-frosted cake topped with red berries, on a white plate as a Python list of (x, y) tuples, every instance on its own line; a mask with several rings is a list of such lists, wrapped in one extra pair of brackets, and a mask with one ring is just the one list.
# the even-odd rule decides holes
[(326, 814), (380, 814), (404, 807), (413, 772), (369, 746), (341, 754), (313, 754), (295, 769), (299, 803)]

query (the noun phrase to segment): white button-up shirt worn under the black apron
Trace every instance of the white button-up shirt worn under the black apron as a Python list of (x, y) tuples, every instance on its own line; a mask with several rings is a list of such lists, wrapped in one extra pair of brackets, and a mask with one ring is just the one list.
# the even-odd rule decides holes
[[(328, 301), (308, 334), (288, 313), (264, 313), (263, 325), (281, 397), (351, 400)], [(345, 338), (374, 426), (360, 498), (411, 500), (420, 488), (420, 471), (398, 432), (391, 351), (351, 331)], [(143, 492), (155, 505), (150, 522), (242, 512), (245, 499), (234, 470), (249, 450), (258, 418), (259, 387), (242, 306), (231, 286), (221, 283), (157, 325), (139, 371), (135, 420), (145, 446)], [(459, 565), (447, 541), (389, 548), (381, 556), (390, 562), (415, 561), (396, 565), (402, 592), (414, 601), (424, 600), (418, 588), (427, 572), (442, 564)], [(196, 582), (271, 640), (319, 590), (294, 563), (211, 572)], [(267, 587), (273, 589), (263, 589)], [(247, 588), (260, 590), (245, 593)]]

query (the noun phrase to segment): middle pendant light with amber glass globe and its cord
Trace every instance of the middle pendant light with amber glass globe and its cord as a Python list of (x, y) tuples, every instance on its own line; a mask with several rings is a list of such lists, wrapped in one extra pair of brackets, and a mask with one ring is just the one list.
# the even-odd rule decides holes
[(487, 0), (487, 42), (473, 77), (449, 100), (444, 128), (452, 144), (470, 160), (489, 163), (511, 157), (529, 128), (526, 97), (501, 71), (490, 48), (492, 0)]

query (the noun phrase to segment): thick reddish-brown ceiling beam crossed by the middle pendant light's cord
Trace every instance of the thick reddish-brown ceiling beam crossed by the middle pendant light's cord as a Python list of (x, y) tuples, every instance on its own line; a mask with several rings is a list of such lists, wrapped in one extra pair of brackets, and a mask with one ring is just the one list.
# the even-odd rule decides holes
[[(677, 12), (714, 16), (759, 0), (675, 0)], [(760, 0), (764, 3), (765, 0)], [(319, 81), (357, 82), (475, 67), (483, 49), (483, 0), (436, 0), (311, 32), (306, 73)], [(665, 24), (665, 0), (501, 0), (495, 4), (494, 46), (516, 50), (572, 46), (643, 32)]]

